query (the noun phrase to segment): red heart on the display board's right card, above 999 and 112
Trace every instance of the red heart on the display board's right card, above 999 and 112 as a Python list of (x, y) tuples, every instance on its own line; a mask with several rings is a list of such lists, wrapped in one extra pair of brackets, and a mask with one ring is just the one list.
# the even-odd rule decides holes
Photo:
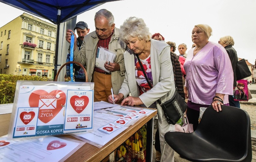
[(89, 98), (87, 96), (72, 96), (70, 98), (70, 104), (78, 114), (80, 114), (86, 108), (88, 103)]

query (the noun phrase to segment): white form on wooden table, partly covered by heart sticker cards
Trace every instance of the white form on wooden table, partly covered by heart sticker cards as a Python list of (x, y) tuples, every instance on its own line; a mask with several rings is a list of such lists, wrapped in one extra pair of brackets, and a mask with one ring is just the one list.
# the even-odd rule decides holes
[(114, 137), (118, 136), (121, 132), (123, 132), (125, 129), (128, 128), (126, 126), (123, 126), (122, 128), (117, 129), (116, 131), (114, 131), (111, 134), (108, 134), (106, 132), (102, 132), (102, 131), (98, 130), (102, 126), (105, 126), (109, 123), (110, 123), (110, 121), (108, 121), (108, 120), (99, 119), (99, 118), (95, 117), (94, 123), (93, 123), (94, 124), (93, 132), (78, 133), (78, 134), (75, 134), (74, 136), (83, 137), (87, 140), (90, 140), (94, 143), (99, 144), (100, 146), (104, 146), (106, 143), (108, 143), (110, 140), (112, 140)]

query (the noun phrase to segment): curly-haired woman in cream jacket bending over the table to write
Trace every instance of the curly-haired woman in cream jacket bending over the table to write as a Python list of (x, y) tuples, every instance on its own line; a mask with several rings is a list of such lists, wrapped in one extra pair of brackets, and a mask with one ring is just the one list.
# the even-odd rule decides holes
[[(164, 41), (151, 39), (151, 33), (143, 19), (130, 17), (120, 26), (120, 39), (126, 42), (129, 50), (124, 53), (125, 79), (121, 89), (114, 100), (110, 95), (110, 103), (119, 102), (121, 105), (156, 107), (158, 113), (158, 126), (160, 145), (163, 148), (164, 134), (174, 130), (164, 118), (158, 99), (165, 102), (175, 93), (170, 46)], [(146, 72), (148, 81), (144, 77), (142, 68), (136, 57), (138, 54)], [(152, 88), (150, 88), (152, 87)], [(131, 93), (131, 96), (129, 94)], [(163, 161), (174, 161), (174, 151), (166, 145)]]

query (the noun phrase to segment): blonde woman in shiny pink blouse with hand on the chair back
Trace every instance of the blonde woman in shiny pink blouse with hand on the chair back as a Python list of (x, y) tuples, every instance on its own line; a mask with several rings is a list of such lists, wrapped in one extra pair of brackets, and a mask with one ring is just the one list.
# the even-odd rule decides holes
[[(200, 107), (212, 107), (218, 112), (221, 105), (228, 105), (226, 94), (233, 94), (233, 70), (223, 46), (209, 42), (212, 28), (209, 25), (195, 25), (192, 42), (197, 46), (190, 49), (184, 63), (186, 81), (184, 86), (187, 102), (187, 117), (198, 126)], [(225, 96), (226, 95), (226, 96)]]

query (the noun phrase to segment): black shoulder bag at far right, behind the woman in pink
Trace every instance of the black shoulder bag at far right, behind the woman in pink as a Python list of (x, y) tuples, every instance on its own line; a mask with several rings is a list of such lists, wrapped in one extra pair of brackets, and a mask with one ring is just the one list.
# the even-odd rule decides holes
[(241, 80), (251, 76), (251, 71), (248, 68), (245, 59), (241, 59), (236, 65), (236, 80)]

